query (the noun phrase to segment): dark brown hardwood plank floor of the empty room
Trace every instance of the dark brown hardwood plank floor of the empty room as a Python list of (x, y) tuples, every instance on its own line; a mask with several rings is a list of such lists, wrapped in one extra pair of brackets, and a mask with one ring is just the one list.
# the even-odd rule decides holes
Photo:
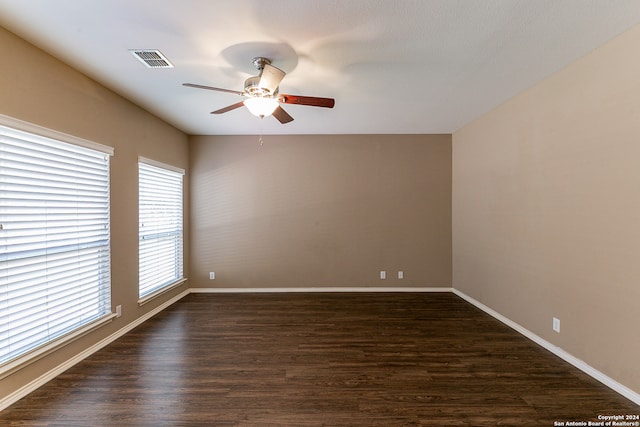
[(9, 426), (553, 426), (640, 407), (454, 294), (192, 294)]

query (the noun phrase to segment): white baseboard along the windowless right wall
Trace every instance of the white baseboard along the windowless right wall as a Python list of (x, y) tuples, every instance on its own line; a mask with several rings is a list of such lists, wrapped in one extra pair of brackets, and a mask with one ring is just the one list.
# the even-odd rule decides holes
[(553, 354), (555, 354), (559, 358), (563, 359), (564, 361), (566, 361), (566, 362), (570, 363), (571, 365), (575, 366), (576, 368), (580, 369), (585, 374), (587, 374), (587, 375), (593, 377), (594, 379), (600, 381), (602, 384), (606, 385), (607, 387), (609, 387), (613, 391), (623, 395), (624, 397), (626, 397), (627, 399), (631, 400), (632, 402), (640, 405), (640, 394), (638, 394), (635, 391), (631, 390), (629, 387), (627, 387), (627, 386), (625, 386), (623, 384), (620, 384), (619, 382), (617, 382), (613, 378), (603, 374), (602, 372), (598, 371), (596, 368), (588, 365), (583, 360), (578, 359), (577, 357), (571, 355), (570, 353), (566, 352), (562, 348), (560, 348), (560, 347), (558, 347), (556, 345), (553, 345), (549, 341), (547, 341), (547, 340), (541, 338), (540, 336), (534, 334), (530, 330), (528, 330), (526, 328), (523, 328), (522, 326), (520, 326), (516, 322), (504, 317), (503, 315), (501, 315), (497, 311), (487, 307), (486, 305), (482, 304), (480, 301), (477, 301), (477, 300), (473, 299), (472, 297), (470, 297), (469, 295), (465, 294), (464, 292), (461, 292), (461, 291), (459, 291), (457, 289), (453, 289), (453, 288), (452, 288), (452, 291), (453, 291), (454, 294), (458, 295), (460, 298), (464, 299), (468, 303), (476, 306), (477, 308), (479, 308), (480, 310), (484, 311), (485, 313), (487, 313), (491, 317), (494, 317), (495, 319), (501, 321), (505, 325), (507, 325), (510, 328), (514, 329), (516, 332), (520, 333), (521, 335), (524, 335), (525, 337), (529, 338), (531, 341), (533, 341), (536, 344), (538, 344), (538, 345), (544, 347), (545, 349), (549, 350), (550, 352), (552, 352)]

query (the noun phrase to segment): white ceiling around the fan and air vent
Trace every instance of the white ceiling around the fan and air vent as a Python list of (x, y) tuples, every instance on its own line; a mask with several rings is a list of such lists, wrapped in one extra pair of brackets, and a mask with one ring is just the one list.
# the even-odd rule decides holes
[[(640, 23), (638, 0), (0, 0), (0, 25), (189, 134), (451, 133)], [(149, 69), (129, 49), (175, 65)], [(295, 120), (251, 116), (266, 56)], [(3, 60), (8, 60), (3, 58)]]

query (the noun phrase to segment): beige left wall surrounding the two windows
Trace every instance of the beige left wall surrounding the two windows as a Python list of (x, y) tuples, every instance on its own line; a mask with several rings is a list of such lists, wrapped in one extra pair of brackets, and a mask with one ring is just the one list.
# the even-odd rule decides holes
[(187, 168), (188, 144), (182, 132), (2, 28), (0, 51), (0, 114), (115, 148), (111, 159), (112, 305), (122, 305), (123, 312), (107, 326), (0, 380), (1, 401), (186, 289), (184, 285), (138, 307), (137, 157)]

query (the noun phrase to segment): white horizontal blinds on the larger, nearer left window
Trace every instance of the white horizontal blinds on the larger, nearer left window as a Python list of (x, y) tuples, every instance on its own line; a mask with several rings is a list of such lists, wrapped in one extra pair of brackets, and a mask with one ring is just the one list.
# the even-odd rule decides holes
[(111, 153), (0, 126), (0, 366), (110, 314)]

